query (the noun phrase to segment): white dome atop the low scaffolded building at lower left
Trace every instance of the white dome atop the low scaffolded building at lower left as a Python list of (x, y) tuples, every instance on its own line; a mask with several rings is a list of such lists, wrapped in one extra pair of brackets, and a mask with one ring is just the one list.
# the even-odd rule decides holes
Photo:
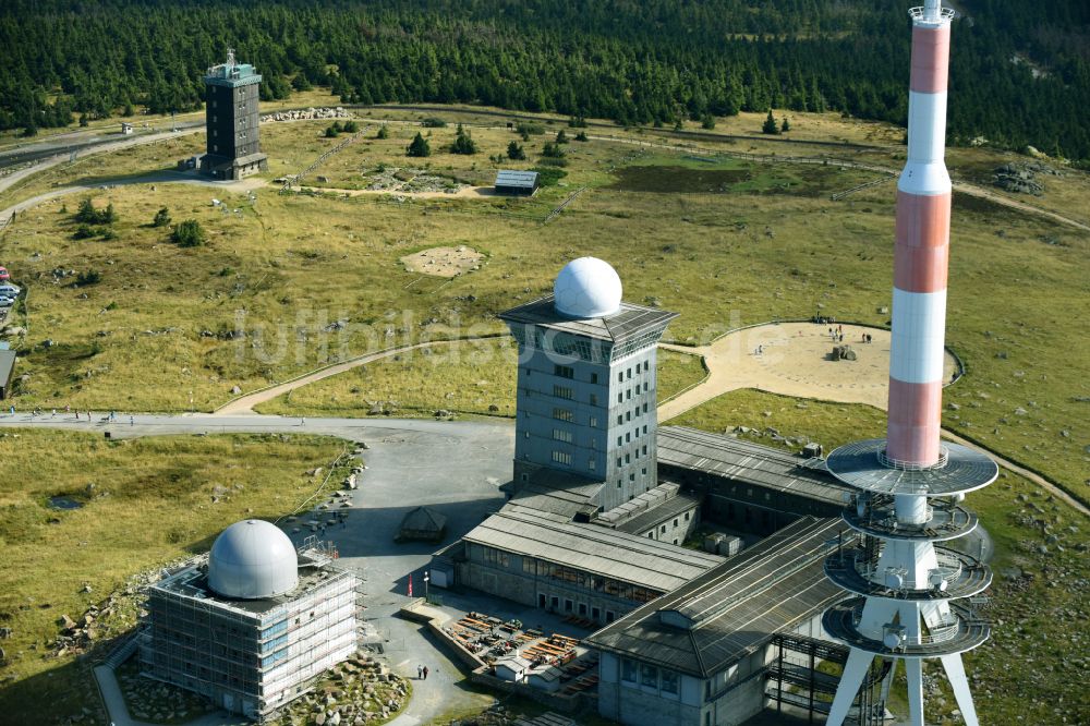
[(208, 586), (225, 597), (258, 600), (295, 589), (299, 558), (276, 524), (245, 519), (223, 530), (208, 555)]

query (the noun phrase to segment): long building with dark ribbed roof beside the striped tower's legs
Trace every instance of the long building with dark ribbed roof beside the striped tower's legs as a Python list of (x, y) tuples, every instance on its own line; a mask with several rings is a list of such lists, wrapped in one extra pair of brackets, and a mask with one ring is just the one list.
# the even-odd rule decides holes
[(598, 712), (622, 724), (735, 726), (764, 709), (777, 633), (820, 637), (846, 525), (806, 517), (589, 636)]

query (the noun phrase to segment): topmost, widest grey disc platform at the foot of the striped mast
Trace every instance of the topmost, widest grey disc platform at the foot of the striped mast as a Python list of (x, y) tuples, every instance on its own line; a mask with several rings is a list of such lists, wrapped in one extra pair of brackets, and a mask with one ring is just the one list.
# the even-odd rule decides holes
[(953, 496), (988, 486), (1000, 468), (988, 456), (959, 444), (947, 444), (945, 460), (928, 469), (892, 467), (884, 438), (846, 444), (828, 455), (825, 467), (838, 480), (875, 494)]

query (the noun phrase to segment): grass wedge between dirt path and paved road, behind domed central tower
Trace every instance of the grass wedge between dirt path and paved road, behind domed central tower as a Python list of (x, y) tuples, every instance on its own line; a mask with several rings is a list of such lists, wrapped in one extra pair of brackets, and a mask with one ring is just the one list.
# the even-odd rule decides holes
[[(514, 415), (518, 349), (510, 338), (414, 350), (385, 359), (257, 407), (259, 413), (313, 416)], [(700, 358), (658, 351), (658, 399), (703, 380)]]

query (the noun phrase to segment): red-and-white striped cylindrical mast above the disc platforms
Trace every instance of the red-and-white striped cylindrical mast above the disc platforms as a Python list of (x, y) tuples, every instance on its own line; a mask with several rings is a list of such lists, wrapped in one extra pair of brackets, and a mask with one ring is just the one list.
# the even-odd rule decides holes
[(928, 0), (913, 16), (908, 161), (897, 184), (886, 456), (917, 467), (940, 457), (950, 239), (944, 161), (949, 20), (940, 0)]

